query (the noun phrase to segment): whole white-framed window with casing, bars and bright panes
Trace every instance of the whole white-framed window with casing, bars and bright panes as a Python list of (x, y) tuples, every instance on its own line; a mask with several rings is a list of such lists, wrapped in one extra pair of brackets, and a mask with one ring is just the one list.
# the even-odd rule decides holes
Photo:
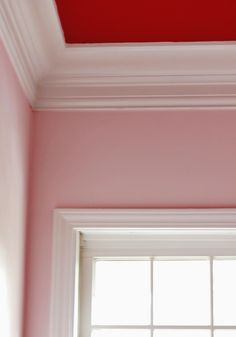
[(232, 210), (57, 211), (50, 337), (236, 337), (235, 225)]

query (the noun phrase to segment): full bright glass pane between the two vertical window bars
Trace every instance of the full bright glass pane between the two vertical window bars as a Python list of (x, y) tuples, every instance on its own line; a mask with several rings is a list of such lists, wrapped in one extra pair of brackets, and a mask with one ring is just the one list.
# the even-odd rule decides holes
[(153, 290), (154, 324), (210, 324), (209, 260), (155, 261)]

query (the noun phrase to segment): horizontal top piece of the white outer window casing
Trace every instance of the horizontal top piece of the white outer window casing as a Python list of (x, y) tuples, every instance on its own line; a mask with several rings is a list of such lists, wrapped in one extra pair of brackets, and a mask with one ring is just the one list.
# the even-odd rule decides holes
[[(210, 209), (56, 209), (55, 223), (73, 229), (130, 228), (236, 228), (236, 208)], [(58, 225), (58, 226), (59, 226)], [(158, 225), (158, 226), (157, 226)]]

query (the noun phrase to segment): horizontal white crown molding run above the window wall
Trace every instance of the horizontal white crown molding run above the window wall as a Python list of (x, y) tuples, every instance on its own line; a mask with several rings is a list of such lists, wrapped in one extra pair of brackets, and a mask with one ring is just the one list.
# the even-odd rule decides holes
[(236, 44), (67, 47), (36, 110), (236, 107)]

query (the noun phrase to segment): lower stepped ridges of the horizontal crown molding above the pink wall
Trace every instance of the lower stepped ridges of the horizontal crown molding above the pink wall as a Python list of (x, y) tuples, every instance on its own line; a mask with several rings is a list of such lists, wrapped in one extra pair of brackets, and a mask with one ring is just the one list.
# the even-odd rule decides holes
[[(104, 82), (97, 79), (90, 84), (78, 83), (54, 86), (43, 84), (34, 105), (37, 111), (166, 109), (166, 108), (236, 108), (236, 83), (179, 84), (145, 83), (142, 78), (112, 78)], [(102, 80), (102, 79), (100, 79)], [(122, 82), (123, 80), (123, 82)], [(213, 79), (214, 80), (214, 79)], [(213, 82), (211, 77), (209, 81)], [(180, 79), (181, 81), (181, 79)], [(138, 83), (139, 82), (139, 83)]]

